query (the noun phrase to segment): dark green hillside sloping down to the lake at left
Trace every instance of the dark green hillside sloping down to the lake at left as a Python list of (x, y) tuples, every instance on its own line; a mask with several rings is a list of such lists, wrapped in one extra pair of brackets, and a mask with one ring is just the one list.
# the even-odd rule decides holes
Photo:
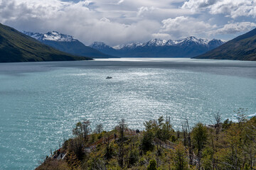
[(92, 60), (76, 57), (43, 45), (14, 28), (0, 23), (0, 62), (43, 62)]

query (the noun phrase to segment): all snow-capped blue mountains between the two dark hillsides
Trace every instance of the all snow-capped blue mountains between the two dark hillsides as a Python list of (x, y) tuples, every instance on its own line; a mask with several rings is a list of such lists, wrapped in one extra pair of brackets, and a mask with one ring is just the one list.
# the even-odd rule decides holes
[(89, 47), (82, 44), (70, 35), (56, 31), (42, 33), (31, 33), (23, 31), (26, 35), (55, 47), (63, 52), (73, 55), (88, 57), (195, 57), (215, 47), (222, 45), (222, 40), (207, 40), (193, 36), (182, 40), (160, 40), (154, 39), (149, 42), (129, 43), (111, 47), (104, 42), (94, 42)]

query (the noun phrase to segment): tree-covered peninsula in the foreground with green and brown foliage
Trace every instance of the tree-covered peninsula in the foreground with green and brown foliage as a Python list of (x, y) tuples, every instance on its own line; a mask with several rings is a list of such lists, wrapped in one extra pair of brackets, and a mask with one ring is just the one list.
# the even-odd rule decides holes
[(82, 120), (36, 169), (255, 169), (256, 117), (245, 112), (235, 111), (236, 122), (216, 113), (214, 125), (184, 120), (179, 130), (162, 116), (144, 122), (144, 130), (129, 129), (122, 119), (113, 130), (100, 124), (92, 131)]

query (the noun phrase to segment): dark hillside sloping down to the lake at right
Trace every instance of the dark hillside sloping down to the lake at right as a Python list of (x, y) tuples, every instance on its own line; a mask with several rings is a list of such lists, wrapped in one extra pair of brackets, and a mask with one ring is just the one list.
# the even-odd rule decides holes
[(256, 28), (195, 58), (256, 61)]

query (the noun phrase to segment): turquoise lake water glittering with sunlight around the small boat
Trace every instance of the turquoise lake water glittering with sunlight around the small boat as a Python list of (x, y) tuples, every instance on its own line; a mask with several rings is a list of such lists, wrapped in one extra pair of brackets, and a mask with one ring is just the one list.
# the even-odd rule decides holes
[[(106, 79), (106, 77), (113, 79)], [(112, 59), (0, 64), (0, 169), (34, 169), (82, 119), (105, 130), (160, 115), (174, 128), (256, 113), (256, 62)]]

